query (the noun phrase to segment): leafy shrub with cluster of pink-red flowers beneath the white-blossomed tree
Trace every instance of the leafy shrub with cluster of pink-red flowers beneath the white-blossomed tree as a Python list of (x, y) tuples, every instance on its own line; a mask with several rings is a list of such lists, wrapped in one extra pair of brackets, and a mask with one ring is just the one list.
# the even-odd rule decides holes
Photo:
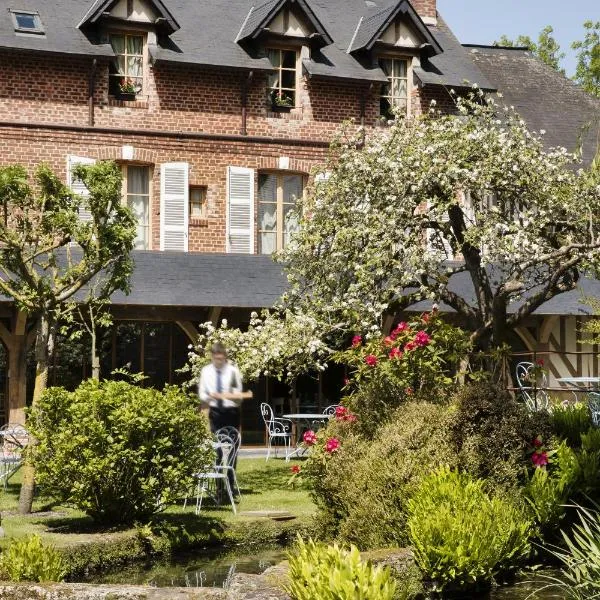
[[(417, 340), (417, 342), (415, 342)], [(349, 369), (345, 404), (365, 433), (373, 431), (408, 399), (444, 400), (456, 386), (468, 336), (437, 313), (400, 323), (389, 336), (355, 335), (334, 360)]]

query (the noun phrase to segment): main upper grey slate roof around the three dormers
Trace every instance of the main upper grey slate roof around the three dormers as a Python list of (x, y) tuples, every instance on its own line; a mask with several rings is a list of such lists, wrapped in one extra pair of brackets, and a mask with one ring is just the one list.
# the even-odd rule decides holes
[[(264, 16), (282, 0), (156, 0), (159, 12), (180, 28), (169, 36), (160, 35), (153, 47), (156, 62), (175, 62), (245, 70), (271, 70), (268, 59), (236, 39), (256, 28)], [(304, 68), (311, 76), (350, 80), (386, 81), (377, 65), (348, 53), (361, 18), (367, 22), (378, 14), (389, 15), (406, 0), (301, 0), (306, 3), (330, 36), (332, 43), (314, 49)], [(113, 56), (108, 44), (98, 43), (93, 28), (78, 25), (95, 19), (110, 0), (0, 0), (0, 48), (89, 56)], [(162, 7), (162, 8), (161, 8)], [(254, 9), (251, 11), (251, 9)], [(8, 9), (38, 11), (45, 35), (14, 31)], [(248, 17), (248, 18), (247, 18)], [(375, 22), (375, 21), (374, 21)], [(458, 86), (477, 81), (485, 87), (483, 75), (464, 58), (464, 50), (445, 25), (427, 26), (432, 41), (443, 53), (425, 61), (418, 77), (424, 84)], [(365, 29), (365, 31), (367, 31)], [(362, 34), (361, 34), (362, 35)], [(329, 41), (329, 40), (326, 40)], [(368, 63), (368, 64), (367, 64)]]

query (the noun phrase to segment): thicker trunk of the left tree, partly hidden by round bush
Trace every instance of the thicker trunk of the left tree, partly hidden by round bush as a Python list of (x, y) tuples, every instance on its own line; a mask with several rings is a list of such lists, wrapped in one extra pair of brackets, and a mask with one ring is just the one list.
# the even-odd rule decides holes
[[(48, 315), (40, 317), (35, 338), (35, 387), (33, 389), (33, 402), (35, 406), (48, 383), (48, 367), (50, 356), (52, 355), (54, 345), (54, 331)], [(29, 448), (36, 444), (35, 439), (29, 436)], [(31, 462), (29, 453), (25, 455), (23, 464), (23, 482), (21, 483), (21, 494), (19, 496), (19, 512), (22, 515), (29, 514), (33, 505), (33, 494), (35, 491), (35, 469)]]

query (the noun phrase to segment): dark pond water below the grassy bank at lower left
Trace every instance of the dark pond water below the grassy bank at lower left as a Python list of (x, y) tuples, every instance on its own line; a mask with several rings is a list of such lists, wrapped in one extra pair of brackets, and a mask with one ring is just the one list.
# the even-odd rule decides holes
[(286, 559), (281, 547), (247, 554), (209, 552), (179, 555), (152, 564), (135, 564), (93, 576), (87, 583), (151, 585), (155, 587), (223, 587), (235, 573), (260, 574)]

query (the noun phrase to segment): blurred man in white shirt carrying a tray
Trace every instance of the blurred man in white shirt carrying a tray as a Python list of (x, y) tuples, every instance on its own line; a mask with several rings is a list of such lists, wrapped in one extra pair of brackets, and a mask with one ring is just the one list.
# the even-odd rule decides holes
[(210, 430), (215, 433), (221, 427), (240, 428), (240, 405), (242, 375), (239, 369), (227, 360), (227, 350), (217, 342), (210, 349), (211, 363), (200, 373), (198, 395), (204, 406), (208, 406)]

